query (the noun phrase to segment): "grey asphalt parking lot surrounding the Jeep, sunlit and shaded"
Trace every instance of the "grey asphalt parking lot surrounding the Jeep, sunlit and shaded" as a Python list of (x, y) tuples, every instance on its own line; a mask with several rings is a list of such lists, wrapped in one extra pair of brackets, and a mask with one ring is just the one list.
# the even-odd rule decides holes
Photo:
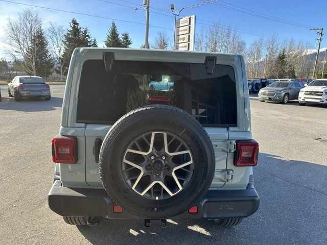
[(15, 102), (0, 86), (0, 244), (327, 244), (327, 107), (262, 103), (251, 96), (259, 210), (234, 228), (169, 220), (151, 233), (139, 220), (75, 227), (48, 208), (64, 85), (52, 99)]

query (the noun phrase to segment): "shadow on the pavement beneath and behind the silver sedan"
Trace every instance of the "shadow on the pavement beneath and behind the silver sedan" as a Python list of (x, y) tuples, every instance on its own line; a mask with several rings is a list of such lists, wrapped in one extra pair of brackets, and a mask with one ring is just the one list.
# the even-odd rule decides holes
[(56, 107), (62, 107), (62, 98), (51, 97), (50, 101), (45, 101), (43, 98), (26, 99), (16, 102), (12, 97), (3, 97), (0, 102), (0, 110), (13, 111), (52, 111)]

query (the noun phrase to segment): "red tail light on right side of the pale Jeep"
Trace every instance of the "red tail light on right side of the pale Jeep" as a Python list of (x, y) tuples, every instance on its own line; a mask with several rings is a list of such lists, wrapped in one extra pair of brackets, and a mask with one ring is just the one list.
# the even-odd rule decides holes
[(236, 142), (235, 165), (255, 166), (258, 164), (259, 143), (255, 140)]

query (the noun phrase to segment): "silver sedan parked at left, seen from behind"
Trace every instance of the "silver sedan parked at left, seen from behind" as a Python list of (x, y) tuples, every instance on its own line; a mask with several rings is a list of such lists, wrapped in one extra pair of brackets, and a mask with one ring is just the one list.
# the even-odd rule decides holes
[(41, 77), (16, 76), (8, 81), (8, 94), (14, 97), (15, 101), (27, 99), (28, 97), (42, 97), (50, 101), (51, 92), (49, 84), (46, 84)]

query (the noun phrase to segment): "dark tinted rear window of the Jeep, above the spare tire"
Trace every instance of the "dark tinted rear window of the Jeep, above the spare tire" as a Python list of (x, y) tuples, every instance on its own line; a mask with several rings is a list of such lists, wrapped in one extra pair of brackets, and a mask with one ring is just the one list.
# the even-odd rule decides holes
[(113, 124), (127, 112), (148, 104), (149, 97), (169, 97), (170, 105), (192, 114), (206, 127), (236, 127), (235, 73), (216, 65), (207, 75), (204, 64), (119, 61), (105, 71), (102, 60), (82, 66), (77, 122)]

